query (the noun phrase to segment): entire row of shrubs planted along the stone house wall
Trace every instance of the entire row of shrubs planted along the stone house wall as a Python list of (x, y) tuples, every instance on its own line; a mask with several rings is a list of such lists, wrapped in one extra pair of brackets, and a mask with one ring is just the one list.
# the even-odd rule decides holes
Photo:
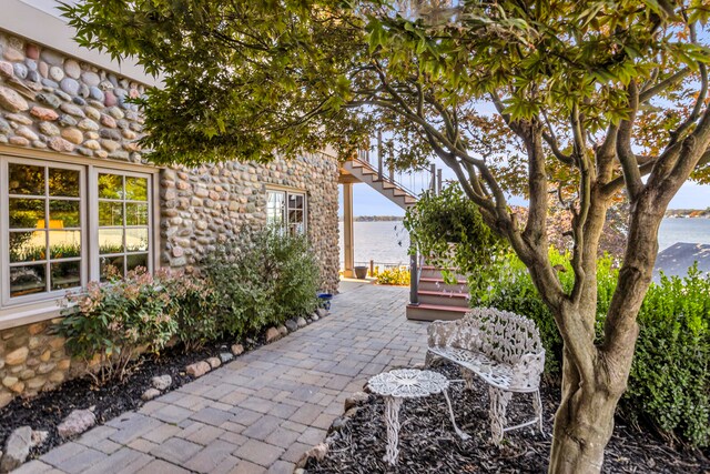
[[(97, 384), (123, 380), (173, 339), (185, 352), (220, 340), (258, 336), (270, 325), (307, 316), (318, 304), (320, 272), (305, 236), (244, 231), (184, 275), (138, 268), (70, 293), (57, 332)], [(111, 268), (110, 268), (111, 269)]]

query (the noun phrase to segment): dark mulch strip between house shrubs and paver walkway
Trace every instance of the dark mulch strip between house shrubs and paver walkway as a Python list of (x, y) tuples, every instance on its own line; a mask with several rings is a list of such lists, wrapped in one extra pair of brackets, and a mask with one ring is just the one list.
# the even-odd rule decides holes
[[(261, 343), (262, 340), (247, 340), (244, 347), (251, 350)], [(47, 431), (47, 441), (30, 454), (31, 458), (37, 457), (65, 442), (59, 437), (57, 425), (73, 410), (93, 406), (98, 424), (103, 424), (124, 412), (142, 406), (145, 402), (141, 400), (141, 395), (150, 389), (153, 376), (171, 375), (173, 383), (165, 392), (175, 390), (194, 380), (185, 374), (185, 365), (230, 352), (229, 344), (214, 342), (201, 351), (191, 353), (185, 353), (181, 346), (170, 347), (162, 352), (160, 357), (142, 356), (141, 364), (123, 382), (110, 382), (97, 387), (90, 377), (74, 379), (33, 399), (18, 397), (0, 409), (0, 446), (4, 446), (6, 438), (20, 426), (28, 425), (32, 430)]]

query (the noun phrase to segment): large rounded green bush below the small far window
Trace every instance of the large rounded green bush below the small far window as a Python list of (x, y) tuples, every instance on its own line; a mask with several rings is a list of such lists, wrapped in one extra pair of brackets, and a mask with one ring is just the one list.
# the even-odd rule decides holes
[(318, 266), (304, 236), (277, 230), (245, 233), (202, 263), (215, 291), (221, 329), (231, 335), (307, 315), (318, 304)]

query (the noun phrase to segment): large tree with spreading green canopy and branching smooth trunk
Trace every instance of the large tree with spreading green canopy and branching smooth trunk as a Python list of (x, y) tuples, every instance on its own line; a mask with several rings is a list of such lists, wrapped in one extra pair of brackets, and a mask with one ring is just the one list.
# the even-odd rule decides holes
[[(347, 157), (376, 129), (400, 167), (443, 160), (565, 342), (550, 471), (601, 468), (663, 212), (689, 178), (710, 180), (707, 1), (82, 0), (65, 12), (80, 43), (164, 74), (141, 101), (158, 163), (327, 144)], [(627, 245), (597, 341), (597, 250), (620, 200)], [(548, 259), (550, 202), (571, 214), (569, 291)]]

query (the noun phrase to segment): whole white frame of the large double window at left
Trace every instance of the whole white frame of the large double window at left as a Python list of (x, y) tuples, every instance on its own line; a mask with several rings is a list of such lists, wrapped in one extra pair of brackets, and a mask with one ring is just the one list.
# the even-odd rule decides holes
[[(41, 157), (41, 158), (40, 158)], [(154, 272), (159, 266), (158, 255), (160, 254), (159, 232), (155, 222), (159, 222), (160, 203), (158, 181), (158, 169), (149, 168), (145, 171), (136, 171), (136, 167), (126, 167), (123, 163), (115, 163), (115, 168), (104, 165), (97, 167), (90, 160), (75, 157), (58, 157), (55, 154), (43, 157), (43, 153), (27, 154), (3, 152), (0, 150), (0, 329), (8, 326), (6, 320), (23, 321), (28, 319), (32, 322), (41, 321), (42, 312), (47, 317), (53, 317), (57, 312), (57, 302), (65, 296), (72, 289), (47, 291), (42, 293), (10, 297), (10, 245), (9, 245), (9, 223), (10, 193), (7, 188), (9, 179), (9, 163), (20, 163), (43, 168), (58, 168), (78, 170), (80, 173), (80, 229), (81, 229), (81, 288), (85, 288), (90, 281), (100, 279), (99, 260), (99, 173), (120, 174), (124, 177), (144, 178), (148, 180), (148, 270)], [(108, 164), (108, 163), (106, 163)], [(112, 163), (113, 164), (113, 163)], [(49, 185), (45, 183), (45, 185)], [(48, 198), (45, 198), (48, 199)], [(131, 252), (126, 252), (131, 253)], [(135, 252), (140, 253), (140, 252)], [(48, 255), (49, 256), (49, 255)], [(28, 264), (31, 264), (29, 262)], [(47, 278), (50, 278), (49, 274)], [(77, 286), (74, 290), (79, 290)], [(21, 307), (27, 307), (28, 316), (22, 316)], [(44, 310), (43, 310), (44, 309)], [(13, 311), (17, 310), (17, 311)], [(13, 314), (14, 313), (14, 314)], [(18, 322), (23, 324), (24, 322)], [(17, 325), (17, 324), (11, 324)]]

